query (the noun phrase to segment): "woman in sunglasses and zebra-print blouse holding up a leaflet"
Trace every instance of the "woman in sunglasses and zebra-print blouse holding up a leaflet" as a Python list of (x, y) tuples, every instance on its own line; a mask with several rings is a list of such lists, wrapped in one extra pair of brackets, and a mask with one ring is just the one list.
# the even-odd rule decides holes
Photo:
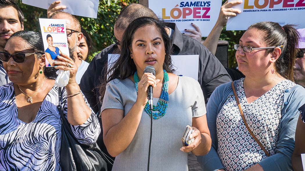
[(57, 105), (81, 144), (93, 144), (100, 132), (75, 81), (75, 63), (67, 55), (58, 56), (55, 68), (70, 71), (69, 83), (59, 91), (56, 69), (45, 67), (42, 37), (33, 31), (15, 32), (0, 58), (12, 81), (0, 87), (0, 170), (60, 170), (62, 124)]

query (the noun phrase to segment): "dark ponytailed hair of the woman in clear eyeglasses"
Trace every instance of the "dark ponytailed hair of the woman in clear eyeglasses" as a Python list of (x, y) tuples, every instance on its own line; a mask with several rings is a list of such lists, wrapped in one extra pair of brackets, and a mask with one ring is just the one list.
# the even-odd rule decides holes
[[(280, 46), (281, 55), (275, 61), (275, 71), (282, 77), (293, 81), (293, 67), (297, 53), (299, 34), (294, 25), (280, 26), (277, 22), (257, 22), (252, 24), (249, 29), (258, 29), (264, 32), (264, 41), (267, 46)], [(274, 49), (267, 49), (271, 53)]]

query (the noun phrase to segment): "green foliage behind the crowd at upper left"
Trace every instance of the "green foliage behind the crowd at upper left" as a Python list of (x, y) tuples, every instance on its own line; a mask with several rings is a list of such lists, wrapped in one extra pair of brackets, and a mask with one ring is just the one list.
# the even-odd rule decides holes
[[(24, 29), (40, 32), (39, 18), (47, 18), (47, 10), (23, 4), (21, 1), (16, 0), (24, 13)], [(120, 11), (130, 3), (138, 3), (138, 0), (100, 0), (97, 19), (77, 16), (95, 44), (94, 53), (89, 56), (88, 61), (113, 43), (110, 36), (113, 34), (114, 22)]]

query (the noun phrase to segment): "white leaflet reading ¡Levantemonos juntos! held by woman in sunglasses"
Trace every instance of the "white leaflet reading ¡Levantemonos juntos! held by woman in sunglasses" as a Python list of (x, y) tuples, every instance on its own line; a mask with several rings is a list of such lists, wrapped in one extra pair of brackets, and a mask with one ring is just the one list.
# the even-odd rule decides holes
[(66, 20), (39, 19), (43, 45), (45, 47), (45, 66), (54, 67), (57, 56), (64, 53), (69, 56)]

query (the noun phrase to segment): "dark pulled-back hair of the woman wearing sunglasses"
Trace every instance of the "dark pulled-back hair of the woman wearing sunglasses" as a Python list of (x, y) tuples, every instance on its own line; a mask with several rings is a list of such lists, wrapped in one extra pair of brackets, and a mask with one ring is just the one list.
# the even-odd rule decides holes
[[(30, 47), (33, 49), (34, 52), (40, 52), (40, 53), (35, 54), (38, 59), (41, 58), (42, 54), (45, 54), (42, 36), (38, 32), (21, 30), (21, 31), (13, 33), (9, 39), (11, 39), (12, 37), (20, 37), (21, 39), (25, 40), (28, 45), (30, 45)], [(44, 66), (43, 71), (44, 71), (45, 77), (50, 78), (50, 79), (56, 79), (57, 70), (54, 67), (45, 67)]]

